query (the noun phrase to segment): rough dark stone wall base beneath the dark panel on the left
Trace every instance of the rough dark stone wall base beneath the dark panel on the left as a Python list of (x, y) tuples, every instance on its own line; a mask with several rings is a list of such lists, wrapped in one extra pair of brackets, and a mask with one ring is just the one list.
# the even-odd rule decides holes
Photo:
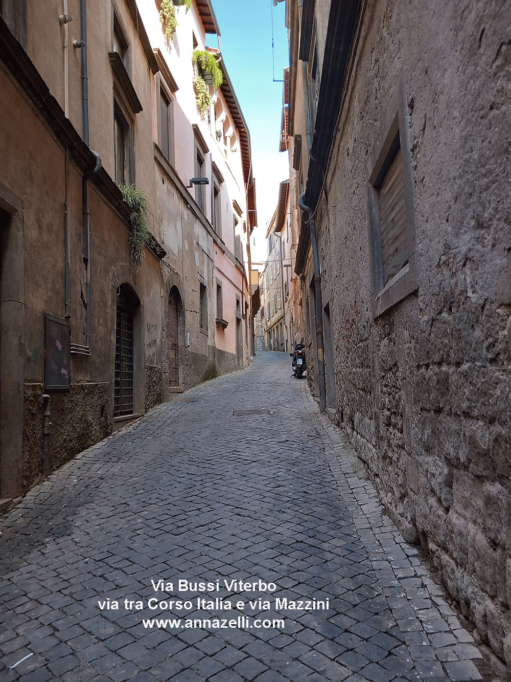
[[(44, 394), (42, 384), (25, 384), (23, 493), (43, 474)], [(110, 384), (72, 384), (71, 391), (50, 394), (48, 472), (112, 432)]]

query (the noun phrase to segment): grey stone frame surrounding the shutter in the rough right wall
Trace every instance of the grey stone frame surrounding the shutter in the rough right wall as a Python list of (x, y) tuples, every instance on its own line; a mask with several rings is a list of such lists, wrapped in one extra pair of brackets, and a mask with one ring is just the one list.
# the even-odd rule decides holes
[[(380, 202), (377, 188), (384, 181), (388, 167), (399, 148), (401, 149), (403, 198), (407, 224), (406, 244), (409, 258), (408, 263), (384, 285)], [(399, 82), (392, 93), (384, 115), (384, 123), (369, 155), (367, 163), (367, 203), (369, 248), (371, 251), (371, 306), (373, 318), (377, 318), (418, 288), (414, 179), (409, 140), (409, 115), (403, 74), (399, 77)]]

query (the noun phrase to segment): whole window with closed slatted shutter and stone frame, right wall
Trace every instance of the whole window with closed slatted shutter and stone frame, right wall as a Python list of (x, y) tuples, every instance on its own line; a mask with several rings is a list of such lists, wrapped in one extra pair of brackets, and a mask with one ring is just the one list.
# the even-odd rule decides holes
[(418, 286), (407, 117), (405, 84), (401, 77), (367, 165), (374, 317), (416, 291)]

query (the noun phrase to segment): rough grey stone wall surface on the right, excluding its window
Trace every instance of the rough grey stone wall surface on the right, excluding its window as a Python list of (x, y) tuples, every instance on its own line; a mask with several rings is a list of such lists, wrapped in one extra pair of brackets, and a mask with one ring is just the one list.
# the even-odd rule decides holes
[[(508, 10), (370, 3), (320, 258), (339, 424), (406, 537), (420, 537), (482, 640), (511, 664)], [(401, 74), (418, 291), (373, 320), (367, 161)]]

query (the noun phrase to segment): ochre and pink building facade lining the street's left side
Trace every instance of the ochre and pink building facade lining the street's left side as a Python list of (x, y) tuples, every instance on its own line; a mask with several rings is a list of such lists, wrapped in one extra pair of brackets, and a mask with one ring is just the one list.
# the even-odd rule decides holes
[[(223, 83), (203, 116), (196, 104), (211, 3), (177, 7), (172, 36), (159, 10), (0, 3), (1, 507), (249, 357), (249, 133), (218, 50)], [(149, 206), (140, 265), (119, 186)]]

